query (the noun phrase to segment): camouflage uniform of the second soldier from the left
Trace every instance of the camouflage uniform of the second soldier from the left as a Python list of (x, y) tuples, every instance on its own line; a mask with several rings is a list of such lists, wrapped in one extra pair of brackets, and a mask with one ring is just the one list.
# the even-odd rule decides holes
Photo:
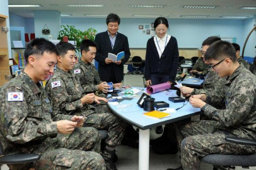
[[(52, 83), (59, 81), (60, 86), (52, 88)], [(53, 108), (59, 109), (67, 115), (82, 115), (86, 117), (84, 126), (108, 130), (105, 143), (108, 147), (120, 144), (125, 123), (113, 113), (97, 112), (92, 105), (82, 104), (82, 88), (75, 75), (56, 68), (53, 77), (46, 85), (47, 93), (52, 99)]]

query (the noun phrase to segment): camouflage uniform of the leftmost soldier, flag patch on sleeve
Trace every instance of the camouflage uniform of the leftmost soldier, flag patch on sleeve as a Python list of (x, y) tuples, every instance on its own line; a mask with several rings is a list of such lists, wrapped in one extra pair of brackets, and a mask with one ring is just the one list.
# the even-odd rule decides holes
[(51, 115), (55, 115), (56, 120), (70, 120), (72, 116), (52, 110), (45, 89), (39, 83), (35, 84), (25, 72), (22, 71), (15, 79), (3, 85), (0, 102), (0, 141), (3, 153), (41, 155), (34, 165), (9, 165), (13, 170), (26, 170), (30, 167), (36, 170), (105, 170), (104, 160), (98, 154), (100, 135), (97, 130), (81, 127), (71, 134), (58, 133)]

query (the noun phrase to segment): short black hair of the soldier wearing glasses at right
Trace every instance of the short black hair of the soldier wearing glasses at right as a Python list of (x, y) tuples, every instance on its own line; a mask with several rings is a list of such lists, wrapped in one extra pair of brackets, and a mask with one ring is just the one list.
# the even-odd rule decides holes
[(230, 58), (233, 62), (235, 62), (236, 50), (230, 42), (219, 40), (209, 46), (204, 55), (204, 58), (208, 61), (211, 59), (221, 60), (225, 58)]

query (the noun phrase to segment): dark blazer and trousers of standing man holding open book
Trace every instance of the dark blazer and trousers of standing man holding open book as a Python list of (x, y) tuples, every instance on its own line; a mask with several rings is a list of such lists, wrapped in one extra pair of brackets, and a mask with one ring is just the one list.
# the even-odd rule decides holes
[[(100, 79), (103, 82), (108, 82), (111, 76), (111, 70), (113, 69), (116, 81), (121, 82), (124, 79), (124, 64), (131, 56), (128, 38), (124, 34), (117, 32), (115, 45), (112, 49), (108, 31), (105, 31), (96, 34), (95, 43), (97, 44), (95, 60), (99, 62), (98, 72)], [(105, 58), (108, 57), (108, 53), (118, 54), (121, 51), (125, 51), (125, 58), (122, 59), (120, 65), (116, 65), (115, 63), (105, 63)]]

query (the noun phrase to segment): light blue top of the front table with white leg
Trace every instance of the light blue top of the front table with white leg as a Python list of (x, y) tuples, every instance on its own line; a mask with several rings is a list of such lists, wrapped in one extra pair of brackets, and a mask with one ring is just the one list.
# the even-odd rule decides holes
[[(108, 102), (108, 106), (116, 116), (120, 117), (121, 119), (125, 120), (125, 122), (128, 122), (131, 125), (134, 125), (142, 130), (176, 122), (178, 120), (186, 119), (191, 116), (200, 114), (200, 108), (193, 108), (189, 104), (189, 102), (187, 103), (187, 101), (185, 102), (187, 104), (183, 108), (180, 108), (181, 106), (183, 106), (183, 102), (174, 103), (169, 101), (168, 98), (172, 96), (177, 96), (176, 90), (168, 90), (151, 94), (151, 97), (155, 98), (155, 102), (167, 102), (169, 103), (169, 108), (173, 108), (172, 110), (175, 111), (174, 113), (163, 111), (166, 113), (170, 113), (170, 116), (164, 117), (162, 119), (157, 119), (143, 115), (143, 113), (146, 113), (147, 111), (144, 111), (143, 108), (140, 108), (140, 106), (137, 105), (139, 98), (123, 100), (122, 102), (119, 102), (119, 105), (111, 105), (111, 102)], [(127, 105), (125, 108), (118, 108), (120, 106), (125, 105)], [(176, 111), (176, 108), (180, 109)]]

